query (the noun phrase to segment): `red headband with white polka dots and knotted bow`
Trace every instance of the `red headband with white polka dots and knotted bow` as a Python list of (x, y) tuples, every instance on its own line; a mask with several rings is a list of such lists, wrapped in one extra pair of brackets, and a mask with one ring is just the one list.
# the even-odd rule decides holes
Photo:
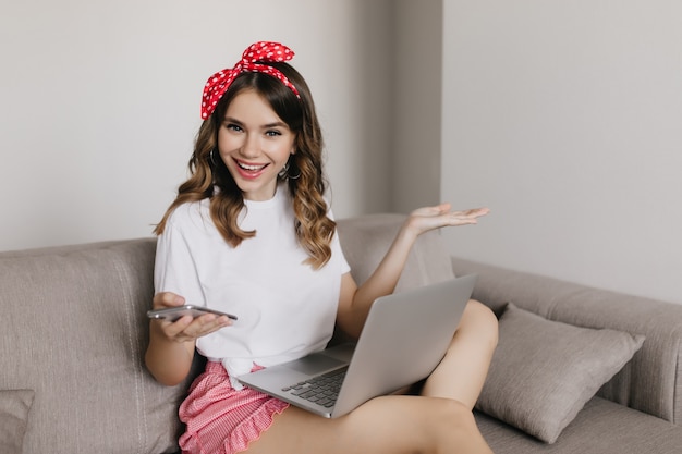
[[(287, 85), (293, 93), (299, 96), (299, 90), (289, 82), (287, 76), (279, 70), (268, 65), (267, 63), (289, 61), (294, 58), (293, 50), (279, 42), (258, 41), (251, 45), (242, 54), (242, 60), (236, 62), (231, 70), (222, 70), (208, 78), (204, 86), (204, 97), (202, 99), (202, 118), (206, 120), (214, 110), (216, 105), (222, 98), (222, 95), (230, 88), (234, 78), (241, 73), (258, 72), (277, 77), (282, 84)], [(259, 62), (259, 63), (256, 63)]]

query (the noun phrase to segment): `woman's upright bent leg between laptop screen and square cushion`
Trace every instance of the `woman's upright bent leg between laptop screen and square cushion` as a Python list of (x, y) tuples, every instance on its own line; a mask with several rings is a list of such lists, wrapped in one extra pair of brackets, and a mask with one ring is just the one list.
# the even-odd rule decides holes
[(421, 394), (452, 398), (474, 408), (498, 340), (497, 318), (484, 304), (470, 300), (452, 343)]

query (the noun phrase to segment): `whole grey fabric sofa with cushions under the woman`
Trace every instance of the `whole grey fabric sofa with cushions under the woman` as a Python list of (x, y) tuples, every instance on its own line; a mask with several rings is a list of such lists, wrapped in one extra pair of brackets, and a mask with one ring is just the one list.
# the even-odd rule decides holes
[[(403, 219), (338, 221), (358, 282)], [(176, 386), (145, 369), (155, 247), (0, 253), (1, 453), (178, 451), (178, 406), (203, 358)], [(496, 453), (682, 453), (682, 305), (451, 257), (438, 232), (418, 238), (397, 292), (470, 273), (500, 317), (475, 409)]]

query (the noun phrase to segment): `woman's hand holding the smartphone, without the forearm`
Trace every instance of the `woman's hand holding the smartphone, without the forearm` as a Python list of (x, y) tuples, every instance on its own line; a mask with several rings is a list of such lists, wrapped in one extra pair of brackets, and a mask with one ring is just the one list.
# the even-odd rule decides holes
[[(171, 292), (162, 292), (154, 295), (151, 303), (155, 309), (162, 309), (167, 307), (178, 307), (185, 304), (185, 299)], [(226, 316), (217, 317), (214, 314), (206, 314), (200, 317), (192, 318), (192, 316), (184, 316), (175, 321), (168, 320), (153, 320), (159, 328), (160, 333), (170, 341), (175, 342), (193, 342), (197, 338), (210, 334), (218, 331), (221, 328), (232, 324)]]

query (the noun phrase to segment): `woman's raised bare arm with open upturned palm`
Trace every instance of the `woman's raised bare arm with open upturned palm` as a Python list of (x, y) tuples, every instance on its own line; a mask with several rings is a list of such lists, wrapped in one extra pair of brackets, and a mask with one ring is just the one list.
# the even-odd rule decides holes
[(358, 287), (350, 273), (343, 275), (337, 312), (337, 321), (341, 329), (352, 336), (360, 335), (372, 303), (379, 296), (393, 293), (417, 236), (443, 226), (475, 224), (477, 218), (487, 214), (488, 211), (487, 208), (450, 211), (450, 204), (413, 211), (367, 281)]

